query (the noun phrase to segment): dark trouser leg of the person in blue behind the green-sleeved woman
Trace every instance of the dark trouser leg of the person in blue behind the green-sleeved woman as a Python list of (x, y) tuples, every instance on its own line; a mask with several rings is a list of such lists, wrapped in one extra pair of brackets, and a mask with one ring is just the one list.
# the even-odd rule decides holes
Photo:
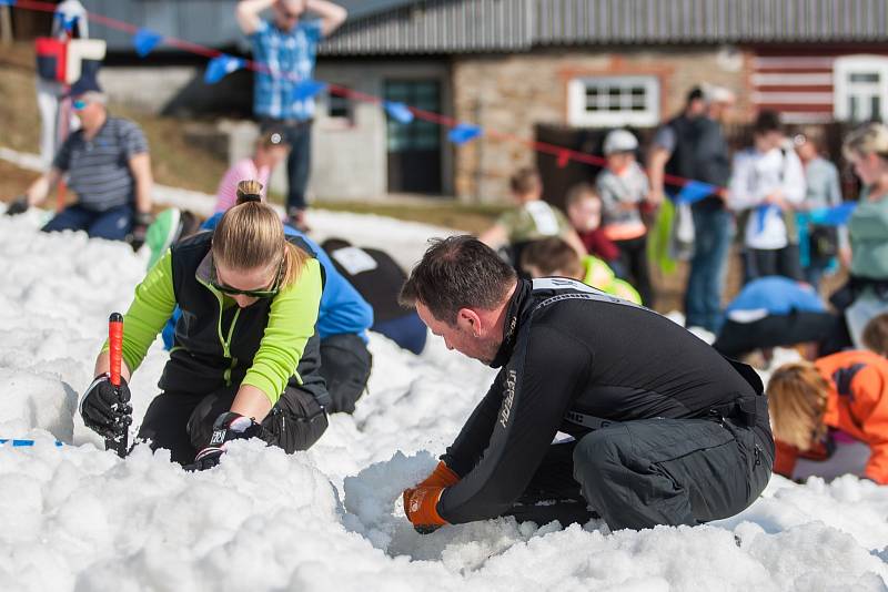
[(345, 333), (321, 340), (321, 376), (330, 392), (330, 414), (354, 412), (370, 378), (373, 357), (357, 335)]

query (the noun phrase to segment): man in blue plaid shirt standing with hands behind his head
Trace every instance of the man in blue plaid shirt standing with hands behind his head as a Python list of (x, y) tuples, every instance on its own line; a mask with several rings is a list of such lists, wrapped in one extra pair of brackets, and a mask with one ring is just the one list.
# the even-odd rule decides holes
[[(260, 13), (272, 9), (265, 21)], [(313, 12), (319, 19), (306, 19)], [(250, 37), (256, 70), (253, 112), (262, 130), (282, 127), (291, 146), (286, 162), (286, 215), (291, 225), (307, 228), (305, 187), (311, 174), (312, 119), (314, 99), (294, 96), (300, 82), (311, 80), (317, 43), (347, 17), (344, 8), (325, 0), (241, 0), (238, 23)]]

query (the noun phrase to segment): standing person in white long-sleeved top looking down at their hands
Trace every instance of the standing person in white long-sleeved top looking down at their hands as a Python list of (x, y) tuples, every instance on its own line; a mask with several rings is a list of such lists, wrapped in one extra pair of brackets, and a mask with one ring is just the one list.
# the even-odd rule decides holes
[(744, 213), (744, 279), (783, 275), (801, 280), (795, 210), (805, 200), (805, 170), (777, 113), (763, 111), (753, 146), (734, 156), (728, 205)]

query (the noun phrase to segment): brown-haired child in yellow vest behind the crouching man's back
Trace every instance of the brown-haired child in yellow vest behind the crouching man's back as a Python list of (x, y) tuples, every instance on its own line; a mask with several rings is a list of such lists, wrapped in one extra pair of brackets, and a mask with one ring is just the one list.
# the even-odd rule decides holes
[(522, 269), (531, 277), (564, 276), (630, 303), (642, 304), (642, 296), (632, 284), (617, 278), (614, 271), (598, 257), (581, 258), (574, 248), (558, 237), (536, 241), (524, 249)]

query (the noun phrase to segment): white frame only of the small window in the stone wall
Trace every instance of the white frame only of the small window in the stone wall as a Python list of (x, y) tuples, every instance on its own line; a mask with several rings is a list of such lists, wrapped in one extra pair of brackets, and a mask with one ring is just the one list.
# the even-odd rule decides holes
[[(598, 86), (599, 89), (644, 86), (645, 109), (643, 111), (632, 111), (630, 109), (622, 111), (588, 111), (586, 109), (586, 89), (589, 86)], [(567, 122), (571, 125), (604, 127), (657, 125), (659, 123), (659, 78), (656, 75), (575, 78), (567, 84)]]

